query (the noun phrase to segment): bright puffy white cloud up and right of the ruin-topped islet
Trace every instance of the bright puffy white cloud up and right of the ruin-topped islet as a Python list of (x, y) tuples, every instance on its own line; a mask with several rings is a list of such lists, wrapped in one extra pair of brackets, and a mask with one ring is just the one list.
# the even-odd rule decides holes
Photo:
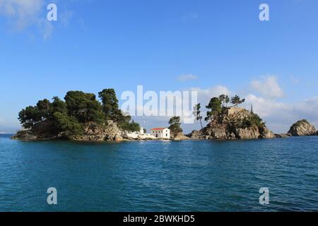
[(254, 80), (250, 84), (252, 89), (264, 97), (275, 99), (284, 96), (276, 76), (264, 76), (261, 80)]

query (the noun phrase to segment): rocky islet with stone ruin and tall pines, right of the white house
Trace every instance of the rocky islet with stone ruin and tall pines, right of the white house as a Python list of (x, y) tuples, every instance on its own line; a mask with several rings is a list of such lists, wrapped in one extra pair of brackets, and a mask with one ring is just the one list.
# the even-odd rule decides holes
[[(227, 107), (231, 102), (234, 106)], [(233, 140), (233, 139), (258, 139), (258, 138), (275, 138), (276, 136), (267, 129), (265, 122), (258, 114), (251, 110), (237, 107), (245, 100), (240, 100), (237, 95), (228, 97), (220, 95), (213, 97), (207, 109), (206, 121), (208, 125), (200, 131), (192, 131), (187, 136), (194, 139), (218, 139), (218, 140)], [(198, 114), (200, 107), (196, 106), (196, 119), (201, 120), (202, 117)]]

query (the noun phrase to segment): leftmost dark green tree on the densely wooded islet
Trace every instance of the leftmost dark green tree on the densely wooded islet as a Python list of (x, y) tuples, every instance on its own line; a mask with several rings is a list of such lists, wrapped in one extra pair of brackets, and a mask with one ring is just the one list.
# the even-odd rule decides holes
[(19, 112), (18, 119), (25, 129), (31, 129), (34, 124), (42, 121), (42, 115), (37, 107), (29, 106)]

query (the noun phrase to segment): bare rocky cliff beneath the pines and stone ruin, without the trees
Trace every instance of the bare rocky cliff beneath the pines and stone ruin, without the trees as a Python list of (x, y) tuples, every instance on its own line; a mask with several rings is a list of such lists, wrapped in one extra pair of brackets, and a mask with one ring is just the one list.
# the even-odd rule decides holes
[(258, 139), (275, 138), (257, 114), (246, 109), (232, 108), (218, 114), (204, 129), (188, 134), (193, 139)]

